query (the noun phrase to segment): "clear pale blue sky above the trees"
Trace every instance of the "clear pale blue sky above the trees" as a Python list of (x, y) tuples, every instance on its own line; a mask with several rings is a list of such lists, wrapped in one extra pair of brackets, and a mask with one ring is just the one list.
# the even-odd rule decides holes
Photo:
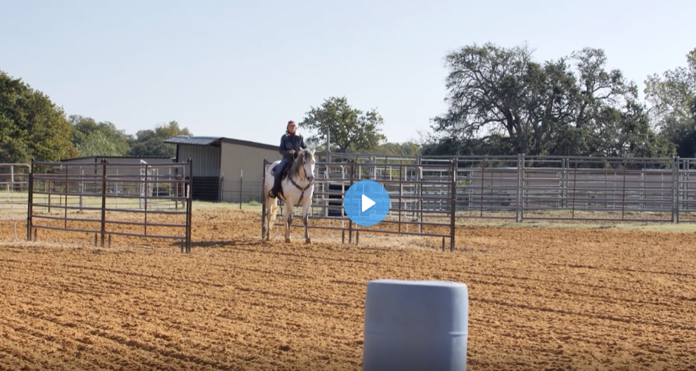
[(529, 43), (538, 60), (584, 46), (640, 84), (685, 65), (696, 1), (0, 0), (0, 70), (67, 115), (134, 134), (276, 144), (329, 96), (377, 108), (389, 141), (446, 110), (449, 51)]

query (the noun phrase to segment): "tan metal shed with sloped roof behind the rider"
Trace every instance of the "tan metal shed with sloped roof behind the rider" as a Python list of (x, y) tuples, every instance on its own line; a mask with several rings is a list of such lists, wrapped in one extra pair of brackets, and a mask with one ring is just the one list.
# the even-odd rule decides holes
[[(211, 136), (175, 136), (176, 161), (193, 160), (193, 200), (261, 200), (264, 158), (281, 160), (278, 145)], [(280, 136), (278, 137), (280, 143)]]

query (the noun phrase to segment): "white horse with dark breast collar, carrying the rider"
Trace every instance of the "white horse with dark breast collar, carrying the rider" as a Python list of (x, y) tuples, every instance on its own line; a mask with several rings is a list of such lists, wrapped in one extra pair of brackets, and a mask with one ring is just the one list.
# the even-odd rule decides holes
[[(269, 191), (273, 188), (273, 172), (280, 164), (278, 160), (266, 168), (266, 182), (264, 183), (264, 207), (266, 208), (266, 241), (271, 239), (271, 221), (276, 219), (276, 198), (269, 197)], [(281, 181), (282, 192), (278, 197), (285, 203), (283, 220), (285, 220), (285, 242), (290, 242), (290, 226), (292, 226), (292, 209), (302, 205), (302, 223), (304, 223), (304, 243), (311, 243), (307, 221), (309, 220), (309, 208), (312, 195), (314, 195), (314, 158), (313, 150), (299, 150), (295, 152), (295, 161), (290, 164), (288, 176)]]

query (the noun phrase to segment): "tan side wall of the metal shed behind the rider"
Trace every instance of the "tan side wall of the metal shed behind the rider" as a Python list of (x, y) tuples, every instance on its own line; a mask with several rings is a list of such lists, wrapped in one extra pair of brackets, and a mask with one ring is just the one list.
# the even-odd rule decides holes
[[(278, 148), (222, 143), (221, 176), (224, 177), (222, 199), (226, 202), (261, 200), (264, 158), (281, 160)], [(242, 176), (242, 178), (240, 178)]]

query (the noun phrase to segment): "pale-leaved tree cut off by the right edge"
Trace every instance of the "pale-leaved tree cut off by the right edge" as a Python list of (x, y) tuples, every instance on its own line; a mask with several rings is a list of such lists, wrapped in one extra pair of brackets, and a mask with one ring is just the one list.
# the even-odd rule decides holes
[(680, 157), (696, 156), (696, 48), (686, 55), (687, 66), (645, 80), (652, 126), (677, 145)]

